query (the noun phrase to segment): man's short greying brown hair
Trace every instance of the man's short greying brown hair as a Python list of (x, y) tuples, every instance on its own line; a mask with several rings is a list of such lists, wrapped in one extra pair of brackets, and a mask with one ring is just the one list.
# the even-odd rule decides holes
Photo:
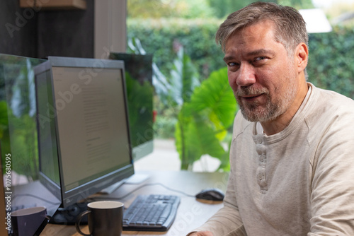
[(284, 45), (289, 56), (295, 52), (299, 43), (308, 45), (306, 23), (299, 11), (290, 6), (269, 2), (255, 2), (231, 13), (217, 30), (215, 41), (224, 52), (225, 44), (233, 33), (263, 20), (272, 20), (275, 23), (275, 41)]

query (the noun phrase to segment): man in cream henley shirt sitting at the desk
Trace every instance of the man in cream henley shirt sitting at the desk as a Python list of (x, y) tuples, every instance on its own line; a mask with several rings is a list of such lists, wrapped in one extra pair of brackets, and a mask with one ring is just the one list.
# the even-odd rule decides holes
[(224, 207), (190, 235), (354, 235), (354, 102), (307, 83), (302, 16), (254, 3), (216, 40), (241, 113)]

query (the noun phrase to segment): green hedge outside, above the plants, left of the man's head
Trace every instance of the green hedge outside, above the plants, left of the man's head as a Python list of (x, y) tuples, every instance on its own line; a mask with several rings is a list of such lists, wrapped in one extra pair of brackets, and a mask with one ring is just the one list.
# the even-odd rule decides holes
[(223, 54), (215, 45), (221, 23), (217, 19), (131, 19), (127, 20), (127, 36), (141, 40), (164, 75), (170, 73), (178, 48), (183, 47), (203, 80), (224, 66)]

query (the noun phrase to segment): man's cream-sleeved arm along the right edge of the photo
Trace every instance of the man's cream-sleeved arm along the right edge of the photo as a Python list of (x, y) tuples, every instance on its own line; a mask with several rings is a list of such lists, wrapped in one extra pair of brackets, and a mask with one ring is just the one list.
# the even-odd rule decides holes
[(331, 120), (317, 148), (309, 236), (354, 235), (354, 114), (348, 113)]

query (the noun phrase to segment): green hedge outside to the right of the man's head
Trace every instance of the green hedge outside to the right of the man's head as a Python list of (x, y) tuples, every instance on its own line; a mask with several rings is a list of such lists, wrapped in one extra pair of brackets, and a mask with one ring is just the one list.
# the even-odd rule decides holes
[(309, 37), (309, 82), (354, 99), (354, 28)]

